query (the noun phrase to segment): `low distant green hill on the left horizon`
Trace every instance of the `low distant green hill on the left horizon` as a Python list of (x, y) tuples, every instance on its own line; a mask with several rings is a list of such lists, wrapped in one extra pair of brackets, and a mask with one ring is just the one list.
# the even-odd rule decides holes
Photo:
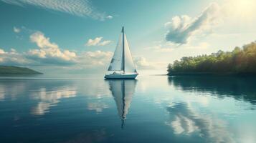
[(34, 71), (27, 67), (18, 66), (0, 66), (0, 75), (3, 74), (42, 74), (39, 71)]

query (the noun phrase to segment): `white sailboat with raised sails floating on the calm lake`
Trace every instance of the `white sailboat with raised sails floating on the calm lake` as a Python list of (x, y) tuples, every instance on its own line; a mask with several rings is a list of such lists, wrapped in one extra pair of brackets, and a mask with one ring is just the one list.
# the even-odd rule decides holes
[(135, 79), (138, 75), (128, 41), (122, 28), (115, 53), (105, 74), (105, 79)]

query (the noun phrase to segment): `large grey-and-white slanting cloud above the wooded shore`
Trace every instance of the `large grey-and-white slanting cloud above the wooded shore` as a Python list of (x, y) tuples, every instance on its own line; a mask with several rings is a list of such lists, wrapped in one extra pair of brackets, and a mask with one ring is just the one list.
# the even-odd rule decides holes
[(165, 26), (169, 29), (166, 33), (166, 41), (175, 44), (188, 43), (191, 36), (197, 31), (204, 31), (217, 23), (220, 13), (219, 5), (212, 3), (194, 19), (189, 16), (174, 16)]

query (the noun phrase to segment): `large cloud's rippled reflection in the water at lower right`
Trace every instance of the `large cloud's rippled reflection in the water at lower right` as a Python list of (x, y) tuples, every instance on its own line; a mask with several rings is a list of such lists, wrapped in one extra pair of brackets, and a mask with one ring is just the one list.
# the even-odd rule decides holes
[(169, 125), (176, 135), (196, 134), (206, 139), (206, 142), (234, 142), (232, 133), (227, 129), (227, 123), (212, 114), (199, 114), (185, 103), (167, 107), (167, 111), (171, 121), (166, 122), (166, 125)]

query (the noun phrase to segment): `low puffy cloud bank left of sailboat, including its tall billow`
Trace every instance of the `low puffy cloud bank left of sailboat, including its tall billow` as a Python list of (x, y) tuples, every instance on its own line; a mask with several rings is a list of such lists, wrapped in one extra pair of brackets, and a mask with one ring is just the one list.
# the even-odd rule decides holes
[(24, 51), (23, 53), (19, 53), (15, 49), (10, 51), (0, 49), (0, 64), (54, 66), (54, 68), (72, 66), (72, 69), (89, 70), (106, 68), (105, 66), (108, 66), (113, 56), (110, 51), (81, 51), (78, 53), (68, 49), (61, 49), (40, 31), (34, 32), (30, 36), (30, 41), (37, 44), (37, 49), (29, 49), (29, 51)]

